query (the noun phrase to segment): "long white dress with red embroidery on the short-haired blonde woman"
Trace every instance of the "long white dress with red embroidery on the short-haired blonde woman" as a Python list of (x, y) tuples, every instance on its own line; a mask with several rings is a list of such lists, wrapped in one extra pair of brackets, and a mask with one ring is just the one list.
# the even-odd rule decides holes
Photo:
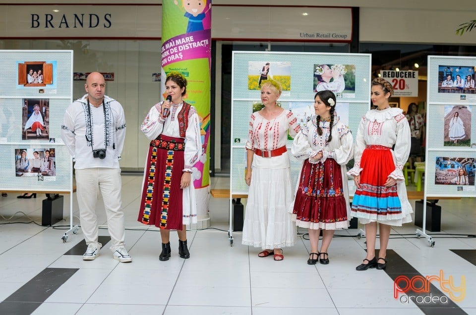
[[(272, 120), (251, 115), (246, 149), (276, 150), (299, 132), (297, 118), (284, 110)], [(242, 244), (274, 249), (296, 243), (296, 225), (288, 212), (294, 199), (288, 152), (278, 157), (253, 155), (252, 175), (244, 215)]]

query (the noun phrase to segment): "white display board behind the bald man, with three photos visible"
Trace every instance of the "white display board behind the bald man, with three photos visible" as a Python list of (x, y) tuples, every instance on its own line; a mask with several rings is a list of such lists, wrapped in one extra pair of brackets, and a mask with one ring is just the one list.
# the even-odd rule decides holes
[[(60, 135), (72, 66), (72, 51), (0, 51), (0, 190), (72, 193), (71, 157)], [(38, 160), (46, 155), (49, 172)]]

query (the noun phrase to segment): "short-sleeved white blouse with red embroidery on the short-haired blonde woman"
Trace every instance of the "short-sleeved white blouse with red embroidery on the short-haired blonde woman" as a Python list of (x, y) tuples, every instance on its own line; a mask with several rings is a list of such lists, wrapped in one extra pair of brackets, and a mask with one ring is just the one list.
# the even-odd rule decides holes
[[(292, 138), (296, 137), (300, 130), (297, 118), (291, 111), (285, 109), (271, 120), (264, 118), (259, 111), (256, 111), (251, 114), (249, 121), (246, 149), (271, 151), (285, 147), (288, 140), (288, 130)], [(270, 163), (269, 157), (253, 155), (252, 165), (259, 168), (287, 168), (291, 166), (287, 152), (272, 158), (273, 162)]]

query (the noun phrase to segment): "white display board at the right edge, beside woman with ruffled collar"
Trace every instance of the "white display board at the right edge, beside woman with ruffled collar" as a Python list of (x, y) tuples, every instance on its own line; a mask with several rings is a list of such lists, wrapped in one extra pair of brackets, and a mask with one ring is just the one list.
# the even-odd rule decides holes
[(476, 57), (428, 56), (425, 199), (476, 197), (475, 70)]

